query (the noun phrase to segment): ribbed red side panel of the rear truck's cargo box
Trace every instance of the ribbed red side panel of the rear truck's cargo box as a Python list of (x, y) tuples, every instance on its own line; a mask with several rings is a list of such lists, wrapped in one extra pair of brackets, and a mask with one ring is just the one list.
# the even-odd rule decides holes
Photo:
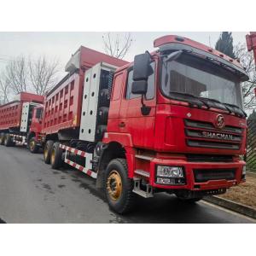
[(0, 131), (20, 127), (21, 102), (9, 102), (0, 106)]

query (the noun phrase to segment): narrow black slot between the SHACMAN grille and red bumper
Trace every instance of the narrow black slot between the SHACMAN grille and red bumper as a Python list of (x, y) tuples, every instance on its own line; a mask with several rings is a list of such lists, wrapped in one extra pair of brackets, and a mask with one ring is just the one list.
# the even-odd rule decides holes
[(212, 154), (187, 154), (189, 162), (233, 162), (232, 155), (212, 155)]

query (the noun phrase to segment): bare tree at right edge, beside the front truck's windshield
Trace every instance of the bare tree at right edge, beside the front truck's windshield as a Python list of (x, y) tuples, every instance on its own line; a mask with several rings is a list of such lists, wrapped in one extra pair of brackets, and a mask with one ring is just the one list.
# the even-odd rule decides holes
[(244, 98), (244, 108), (252, 109), (256, 107), (254, 90), (256, 88), (256, 70), (253, 53), (247, 51), (245, 44), (237, 44), (234, 49), (236, 59), (239, 59), (249, 76), (247, 82), (242, 83), (242, 93)]

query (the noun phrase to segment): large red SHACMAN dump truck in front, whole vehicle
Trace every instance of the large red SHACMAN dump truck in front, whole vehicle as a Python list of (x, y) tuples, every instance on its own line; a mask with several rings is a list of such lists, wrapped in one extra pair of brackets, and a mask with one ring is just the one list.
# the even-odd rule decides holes
[(44, 161), (65, 162), (129, 212), (135, 195), (183, 201), (245, 180), (241, 64), (188, 38), (154, 40), (127, 63), (81, 47), (44, 102)]

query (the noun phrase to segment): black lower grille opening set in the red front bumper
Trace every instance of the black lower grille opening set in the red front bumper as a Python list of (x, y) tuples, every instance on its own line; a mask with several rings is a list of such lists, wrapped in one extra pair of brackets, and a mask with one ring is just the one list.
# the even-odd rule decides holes
[(210, 180), (233, 180), (236, 177), (236, 169), (194, 169), (196, 183), (205, 183)]

